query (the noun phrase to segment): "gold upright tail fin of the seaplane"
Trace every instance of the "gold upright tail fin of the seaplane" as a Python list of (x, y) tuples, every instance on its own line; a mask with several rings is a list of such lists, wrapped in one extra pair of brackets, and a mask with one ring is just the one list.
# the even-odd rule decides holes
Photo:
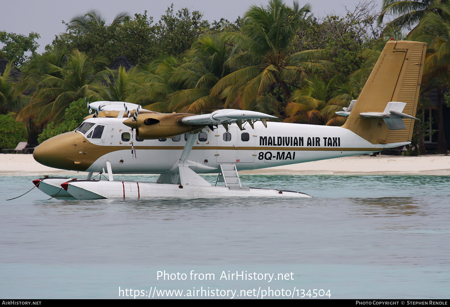
[[(348, 110), (350, 114), (342, 127), (372, 144), (411, 140), (414, 127), (412, 118), (416, 114), (426, 48), (427, 44), (420, 42), (388, 41), (356, 103), (351, 111)], [(382, 116), (373, 115), (386, 113), (386, 110), (390, 109), (387, 106), (389, 102), (406, 103), (404, 113), (401, 114), (410, 117), (400, 116), (405, 128), (398, 124), (388, 127)], [(389, 112), (387, 114), (388, 117), (392, 116)], [(393, 127), (396, 127), (396, 130), (393, 130)]]

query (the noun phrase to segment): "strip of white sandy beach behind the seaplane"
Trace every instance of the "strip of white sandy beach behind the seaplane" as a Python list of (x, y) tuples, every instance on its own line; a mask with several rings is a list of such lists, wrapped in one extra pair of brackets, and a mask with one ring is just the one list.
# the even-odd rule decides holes
[[(240, 174), (267, 175), (450, 175), (449, 155), (420, 157), (369, 155), (306, 162), (269, 167)], [(33, 159), (32, 154), (0, 154), (0, 175), (72, 175), (87, 173), (46, 167)]]

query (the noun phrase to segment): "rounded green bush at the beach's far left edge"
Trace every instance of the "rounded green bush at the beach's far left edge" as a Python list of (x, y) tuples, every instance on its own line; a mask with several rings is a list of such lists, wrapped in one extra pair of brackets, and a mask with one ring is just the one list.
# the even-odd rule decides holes
[(0, 149), (15, 148), (27, 139), (27, 129), (11, 115), (0, 115)]

